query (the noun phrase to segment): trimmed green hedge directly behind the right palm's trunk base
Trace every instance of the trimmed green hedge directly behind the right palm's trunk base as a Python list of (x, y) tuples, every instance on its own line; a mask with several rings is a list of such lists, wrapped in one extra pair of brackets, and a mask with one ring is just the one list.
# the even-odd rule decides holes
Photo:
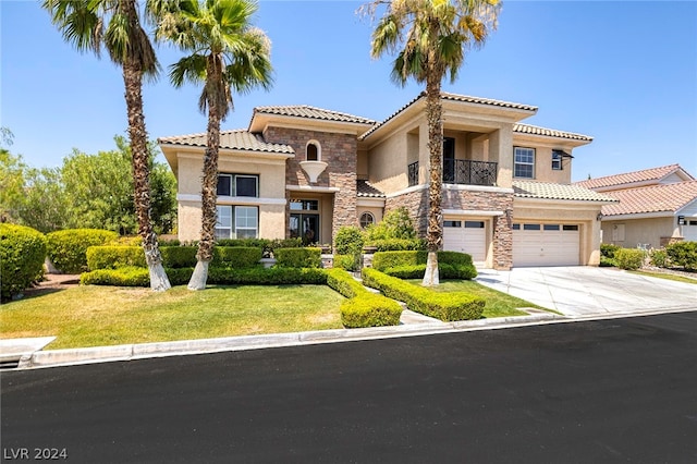
[[(400, 279), (420, 279), (426, 271), (428, 252), (378, 252), (372, 255), (372, 267)], [(441, 279), (474, 279), (477, 269), (466, 253), (438, 252), (438, 271)]]

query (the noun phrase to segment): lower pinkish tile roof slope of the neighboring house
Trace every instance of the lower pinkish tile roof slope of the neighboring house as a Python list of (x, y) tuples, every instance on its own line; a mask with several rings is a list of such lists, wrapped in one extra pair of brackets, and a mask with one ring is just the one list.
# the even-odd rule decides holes
[(604, 216), (675, 212), (697, 200), (697, 181), (626, 188), (604, 194), (620, 200), (619, 204), (603, 206)]

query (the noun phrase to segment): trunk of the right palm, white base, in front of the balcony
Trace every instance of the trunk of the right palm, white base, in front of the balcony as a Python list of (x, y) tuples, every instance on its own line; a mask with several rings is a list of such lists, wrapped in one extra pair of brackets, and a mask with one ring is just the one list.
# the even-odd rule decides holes
[(428, 260), (424, 273), (423, 285), (432, 286), (439, 283), (438, 251), (443, 242), (442, 228), (442, 152), (443, 123), (442, 103), (440, 101), (440, 80), (442, 75), (431, 75), (426, 80), (426, 119), (428, 121), (429, 176), (428, 186), (428, 225), (426, 240), (428, 243)]

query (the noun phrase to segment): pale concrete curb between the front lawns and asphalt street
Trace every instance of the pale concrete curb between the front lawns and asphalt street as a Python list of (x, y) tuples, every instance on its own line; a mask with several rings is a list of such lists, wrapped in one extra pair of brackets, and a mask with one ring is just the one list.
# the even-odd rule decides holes
[(568, 318), (555, 314), (536, 314), (530, 316), (512, 316), (456, 322), (438, 321), (389, 327), (370, 327), (365, 329), (333, 329), (267, 335), (227, 337), (218, 339), (138, 343), (85, 349), (47, 350), (36, 351), (30, 355), (27, 354), (22, 356), (16, 369), (13, 370), (503, 329), (537, 323), (561, 322), (564, 320), (568, 320)]

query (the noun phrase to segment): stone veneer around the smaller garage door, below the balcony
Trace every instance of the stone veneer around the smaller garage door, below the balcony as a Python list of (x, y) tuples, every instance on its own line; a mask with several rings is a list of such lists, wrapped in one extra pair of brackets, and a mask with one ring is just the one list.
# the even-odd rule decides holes
[[(386, 212), (406, 207), (414, 219), (414, 225), (420, 236), (426, 236), (428, 225), (428, 188), (413, 191), (389, 197), (384, 204)], [(503, 216), (493, 217), (493, 268), (509, 270), (513, 266), (513, 194), (501, 192), (477, 192), (465, 190), (443, 190), (443, 209), (467, 211), (503, 211)]]

